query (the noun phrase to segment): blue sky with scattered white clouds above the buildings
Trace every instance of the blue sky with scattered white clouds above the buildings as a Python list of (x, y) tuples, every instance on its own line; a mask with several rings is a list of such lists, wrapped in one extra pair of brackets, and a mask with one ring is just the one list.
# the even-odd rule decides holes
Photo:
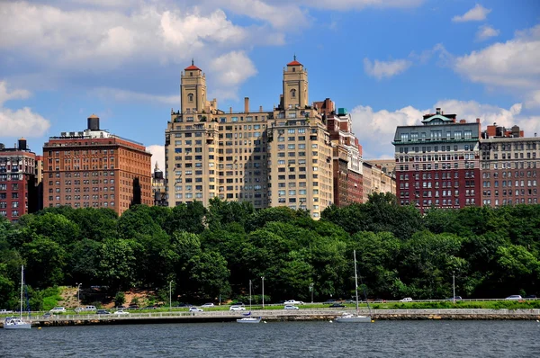
[(0, 23), (0, 143), (36, 154), (95, 113), (164, 168), (192, 58), (208, 98), (241, 112), (244, 97), (272, 110), (296, 56), (365, 159), (393, 157), (396, 127), (437, 107), (540, 135), (537, 0), (3, 0)]

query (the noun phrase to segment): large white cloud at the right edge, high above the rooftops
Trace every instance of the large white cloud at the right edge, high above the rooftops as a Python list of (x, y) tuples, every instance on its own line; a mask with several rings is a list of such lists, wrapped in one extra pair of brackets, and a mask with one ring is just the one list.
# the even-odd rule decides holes
[(455, 71), (473, 82), (521, 89), (540, 83), (540, 25), (455, 59)]

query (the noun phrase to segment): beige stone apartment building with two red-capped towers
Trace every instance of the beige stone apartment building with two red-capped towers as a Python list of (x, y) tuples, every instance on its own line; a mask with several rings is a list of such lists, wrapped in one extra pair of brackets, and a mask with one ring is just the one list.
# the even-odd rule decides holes
[(308, 73), (293, 60), (273, 111), (224, 112), (206, 98), (199, 67), (181, 76), (181, 110), (166, 128), (168, 205), (211, 198), (249, 201), (255, 208), (289, 206), (313, 218), (332, 203), (331, 145), (318, 111), (309, 105)]

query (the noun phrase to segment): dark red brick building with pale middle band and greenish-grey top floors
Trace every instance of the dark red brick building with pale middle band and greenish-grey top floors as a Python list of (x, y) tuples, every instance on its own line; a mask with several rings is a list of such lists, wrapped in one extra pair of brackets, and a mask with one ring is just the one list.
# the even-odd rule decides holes
[(398, 201), (421, 211), (480, 205), (480, 119), (456, 121), (440, 108), (423, 117), (398, 127), (392, 142)]

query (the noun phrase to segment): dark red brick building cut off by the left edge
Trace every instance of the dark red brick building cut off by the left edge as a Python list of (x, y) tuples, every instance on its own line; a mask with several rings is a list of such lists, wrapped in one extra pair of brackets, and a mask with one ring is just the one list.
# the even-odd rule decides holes
[(14, 148), (0, 143), (0, 216), (17, 222), (24, 214), (40, 209), (37, 157), (26, 139), (19, 139)]

